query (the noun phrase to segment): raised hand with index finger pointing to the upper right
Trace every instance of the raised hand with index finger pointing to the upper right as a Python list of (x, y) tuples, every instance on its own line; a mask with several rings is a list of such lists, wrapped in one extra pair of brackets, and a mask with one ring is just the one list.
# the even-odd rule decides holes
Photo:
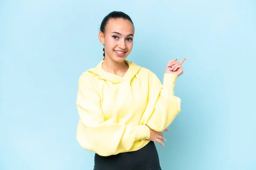
[(176, 76), (180, 76), (183, 74), (183, 68), (182, 63), (186, 60), (186, 58), (183, 58), (180, 62), (177, 62), (177, 59), (169, 61), (168, 65), (166, 66), (166, 72), (169, 74), (175, 74)]

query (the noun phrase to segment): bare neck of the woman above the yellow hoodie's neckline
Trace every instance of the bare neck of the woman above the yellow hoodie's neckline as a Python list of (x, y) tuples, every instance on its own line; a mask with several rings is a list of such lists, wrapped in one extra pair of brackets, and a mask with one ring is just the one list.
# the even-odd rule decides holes
[(128, 65), (123, 62), (114, 62), (112, 59), (105, 57), (102, 62), (102, 69), (112, 74), (120, 74), (128, 70)]

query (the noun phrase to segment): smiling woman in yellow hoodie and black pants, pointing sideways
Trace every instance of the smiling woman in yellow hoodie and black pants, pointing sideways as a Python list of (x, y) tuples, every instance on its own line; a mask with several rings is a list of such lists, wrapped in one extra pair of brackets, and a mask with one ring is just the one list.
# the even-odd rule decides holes
[(154, 142), (164, 145), (161, 132), (180, 112), (173, 90), (186, 58), (168, 63), (162, 85), (154, 73), (125, 60), (133, 37), (127, 14), (108, 14), (99, 32), (104, 59), (79, 77), (76, 139), (95, 152), (94, 170), (160, 170)]

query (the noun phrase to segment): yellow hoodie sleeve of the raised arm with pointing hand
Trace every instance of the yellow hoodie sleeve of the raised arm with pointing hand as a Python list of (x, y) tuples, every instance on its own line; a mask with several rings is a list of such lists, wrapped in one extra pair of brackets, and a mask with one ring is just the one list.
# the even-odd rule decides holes
[(161, 132), (172, 123), (180, 112), (181, 100), (174, 96), (177, 76), (164, 74), (163, 85), (154, 73), (151, 76), (148, 104), (154, 106), (154, 111), (146, 125), (157, 132)]

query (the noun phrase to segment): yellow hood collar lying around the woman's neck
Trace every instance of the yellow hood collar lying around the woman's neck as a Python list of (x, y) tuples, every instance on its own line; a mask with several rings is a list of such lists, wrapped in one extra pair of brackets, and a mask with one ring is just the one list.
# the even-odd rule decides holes
[(99, 79), (111, 81), (113, 84), (118, 84), (125, 80), (131, 81), (131, 79), (133, 79), (135, 77), (135, 75), (139, 72), (139, 70), (141, 68), (139, 65), (136, 65), (134, 62), (129, 62), (129, 61), (125, 60), (125, 63), (127, 63), (129, 65), (129, 68), (126, 71), (124, 77), (120, 77), (116, 74), (112, 74), (112, 73), (108, 73), (108, 72), (104, 71), (102, 69), (103, 61), (104, 60), (99, 62), (99, 64), (95, 68), (91, 68), (90, 70), (88, 70), (88, 72), (94, 74)]

